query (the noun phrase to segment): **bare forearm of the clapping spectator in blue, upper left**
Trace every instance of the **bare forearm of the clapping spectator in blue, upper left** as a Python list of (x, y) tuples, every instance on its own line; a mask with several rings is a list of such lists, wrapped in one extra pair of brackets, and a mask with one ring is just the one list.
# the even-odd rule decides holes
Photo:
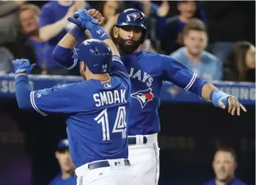
[(43, 41), (49, 41), (51, 38), (58, 35), (62, 29), (64, 29), (67, 24), (67, 18), (62, 18), (60, 21), (57, 21), (53, 24), (41, 27), (39, 29), (39, 36)]

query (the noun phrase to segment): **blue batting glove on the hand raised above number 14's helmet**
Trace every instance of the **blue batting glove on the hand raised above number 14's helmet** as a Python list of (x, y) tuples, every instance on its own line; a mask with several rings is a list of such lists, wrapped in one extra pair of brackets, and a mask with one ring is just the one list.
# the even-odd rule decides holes
[(82, 29), (90, 30), (93, 26), (98, 25), (95, 18), (92, 18), (92, 16), (85, 9), (78, 10), (74, 14), (74, 18), (67, 18), (67, 20), (78, 25), (78, 27), (81, 27)]

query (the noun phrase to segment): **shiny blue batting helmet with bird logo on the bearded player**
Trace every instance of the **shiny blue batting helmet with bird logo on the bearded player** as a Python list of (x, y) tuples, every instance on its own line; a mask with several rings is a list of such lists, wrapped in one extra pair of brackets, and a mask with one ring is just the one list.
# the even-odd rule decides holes
[(134, 8), (124, 10), (118, 16), (118, 21), (116, 26), (117, 27), (132, 26), (132, 27), (141, 28), (143, 30), (142, 41), (144, 41), (144, 38), (146, 36), (146, 16), (140, 10), (136, 10)]

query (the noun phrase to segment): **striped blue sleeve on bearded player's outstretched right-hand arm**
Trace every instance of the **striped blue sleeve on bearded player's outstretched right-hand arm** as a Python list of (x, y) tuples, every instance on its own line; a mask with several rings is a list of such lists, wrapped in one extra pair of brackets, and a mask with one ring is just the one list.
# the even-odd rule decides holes
[(203, 85), (207, 82), (190, 71), (186, 66), (171, 57), (161, 55), (161, 72), (163, 80), (174, 83), (185, 91), (201, 96)]

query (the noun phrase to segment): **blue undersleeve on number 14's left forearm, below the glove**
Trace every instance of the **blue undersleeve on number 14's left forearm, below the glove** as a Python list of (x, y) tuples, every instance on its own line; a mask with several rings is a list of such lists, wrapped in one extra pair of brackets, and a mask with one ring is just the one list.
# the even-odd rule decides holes
[(15, 92), (16, 92), (16, 100), (18, 102), (18, 108), (21, 109), (32, 109), (32, 105), (30, 103), (30, 92), (31, 87), (28, 83), (28, 77), (24, 75), (20, 75), (16, 77), (15, 83)]

